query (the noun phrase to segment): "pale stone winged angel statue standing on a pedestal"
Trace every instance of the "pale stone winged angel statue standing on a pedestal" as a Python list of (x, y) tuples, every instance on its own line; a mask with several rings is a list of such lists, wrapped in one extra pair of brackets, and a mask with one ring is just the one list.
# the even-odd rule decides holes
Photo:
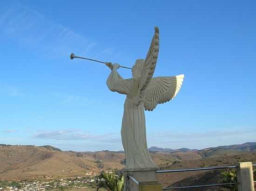
[(159, 29), (155, 27), (148, 54), (137, 59), (132, 78), (123, 79), (117, 72), (119, 64), (107, 62), (111, 69), (107, 85), (110, 91), (127, 96), (124, 103), (121, 137), (126, 154), (125, 170), (156, 169), (148, 153), (144, 109), (153, 111), (158, 103), (172, 100), (181, 89), (184, 75), (152, 77), (159, 52)]

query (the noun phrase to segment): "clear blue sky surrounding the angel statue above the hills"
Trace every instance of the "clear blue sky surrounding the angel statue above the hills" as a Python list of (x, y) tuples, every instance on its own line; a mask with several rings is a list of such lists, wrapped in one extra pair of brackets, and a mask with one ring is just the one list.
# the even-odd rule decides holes
[[(178, 96), (146, 112), (148, 146), (256, 141), (256, 1), (5, 1), (0, 6), (0, 143), (122, 150), (125, 96), (103, 64), (147, 54), (154, 76), (184, 74)], [(119, 69), (124, 78), (130, 70)]]

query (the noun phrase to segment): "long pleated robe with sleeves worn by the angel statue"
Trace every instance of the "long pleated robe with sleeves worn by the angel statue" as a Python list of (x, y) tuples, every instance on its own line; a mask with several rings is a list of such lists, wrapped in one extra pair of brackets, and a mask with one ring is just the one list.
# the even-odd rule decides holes
[(156, 168), (148, 153), (144, 103), (135, 105), (138, 83), (135, 78), (123, 79), (114, 69), (108, 76), (108, 88), (127, 95), (124, 103), (121, 137), (126, 154), (126, 170)]

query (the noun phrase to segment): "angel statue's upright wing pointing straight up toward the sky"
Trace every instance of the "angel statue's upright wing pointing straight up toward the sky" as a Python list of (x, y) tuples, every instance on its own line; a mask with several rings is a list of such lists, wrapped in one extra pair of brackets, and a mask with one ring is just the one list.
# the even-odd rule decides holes
[(159, 52), (159, 28), (155, 26), (155, 34), (152, 38), (148, 54), (145, 58), (145, 64), (141, 74), (141, 80), (139, 84), (139, 100), (141, 100), (145, 94), (145, 90), (154, 74), (155, 65)]

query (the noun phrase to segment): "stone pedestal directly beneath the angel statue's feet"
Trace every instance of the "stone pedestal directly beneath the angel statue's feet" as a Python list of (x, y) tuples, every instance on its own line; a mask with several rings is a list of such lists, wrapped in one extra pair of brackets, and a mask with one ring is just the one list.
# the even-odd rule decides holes
[[(158, 182), (155, 168), (148, 169), (123, 169), (124, 191), (162, 191), (162, 185)], [(128, 178), (135, 178), (137, 183)]]

